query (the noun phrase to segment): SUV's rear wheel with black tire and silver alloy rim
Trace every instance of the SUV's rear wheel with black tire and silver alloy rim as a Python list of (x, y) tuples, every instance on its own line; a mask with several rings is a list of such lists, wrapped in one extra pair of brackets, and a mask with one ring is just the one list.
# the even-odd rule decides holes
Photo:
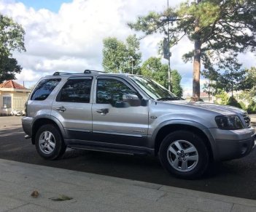
[[(51, 142), (47, 143), (45, 135), (48, 135)], [(40, 144), (40, 140), (44, 143)], [(58, 159), (66, 151), (66, 144), (63, 142), (61, 133), (53, 124), (46, 124), (39, 128), (36, 132), (35, 144), (36, 151), (47, 160)], [(54, 147), (53, 144), (55, 144)]]

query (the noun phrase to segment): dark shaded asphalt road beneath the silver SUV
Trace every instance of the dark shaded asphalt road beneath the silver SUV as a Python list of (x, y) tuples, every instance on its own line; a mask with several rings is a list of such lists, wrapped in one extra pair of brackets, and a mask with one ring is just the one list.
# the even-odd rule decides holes
[(203, 179), (190, 181), (170, 176), (150, 156), (67, 150), (61, 160), (47, 161), (24, 135), (20, 117), (0, 117), (0, 158), (256, 200), (256, 151), (219, 163)]

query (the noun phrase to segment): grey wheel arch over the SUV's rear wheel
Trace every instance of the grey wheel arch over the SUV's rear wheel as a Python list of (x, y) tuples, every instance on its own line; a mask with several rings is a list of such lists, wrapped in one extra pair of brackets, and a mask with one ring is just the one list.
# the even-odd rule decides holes
[(53, 126), (55, 126), (56, 129), (58, 129), (58, 131), (60, 131), (61, 136), (63, 138), (63, 136), (65, 135), (65, 131), (63, 129), (61, 122), (58, 121), (56, 118), (49, 115), (49, 116), (36, 118), (36, 120), (34, 121), (33, 127), (32, 127), (32, 136), (31, 136), (32, 144), (35, 144), (35, 137), (36, 137), (36, 132), (38, 131), (38, 129), (41, 126), (46, 125), (46, 124), (53, 124)]

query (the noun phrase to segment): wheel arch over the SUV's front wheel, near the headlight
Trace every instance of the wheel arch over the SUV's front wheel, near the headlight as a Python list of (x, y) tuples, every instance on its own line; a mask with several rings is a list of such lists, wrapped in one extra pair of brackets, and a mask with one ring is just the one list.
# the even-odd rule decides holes
[(198, 124), (195, 123), (167, 123), (163, 126), (161, 126), (157, 133), (153, 136), (153, 139), (155, 141), (155, 155), (158, 155), (160, 144), (163, 142), (163, 139), (174, 131), (190, 131), (198, 136), (200, 136), (203, 139), (203, 142), (206, 144), (207, 150), (209, 151), (210, 161), (213, 161), (215, 158), (214, 155), (214, 146), (212, 144), (212, 138), (211, 135), (206, 135), (205, 130), (203, 130), (203, 127), (198, 126)]

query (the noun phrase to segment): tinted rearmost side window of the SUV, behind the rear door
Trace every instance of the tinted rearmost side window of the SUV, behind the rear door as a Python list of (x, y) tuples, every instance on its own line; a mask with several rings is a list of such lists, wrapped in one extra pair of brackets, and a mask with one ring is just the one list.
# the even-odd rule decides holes
[(40, 81), (31, 96), (31, 100), (42, 101), (46, 99), (60, 81), (61, 81), (60, 78), (44, 79)]

